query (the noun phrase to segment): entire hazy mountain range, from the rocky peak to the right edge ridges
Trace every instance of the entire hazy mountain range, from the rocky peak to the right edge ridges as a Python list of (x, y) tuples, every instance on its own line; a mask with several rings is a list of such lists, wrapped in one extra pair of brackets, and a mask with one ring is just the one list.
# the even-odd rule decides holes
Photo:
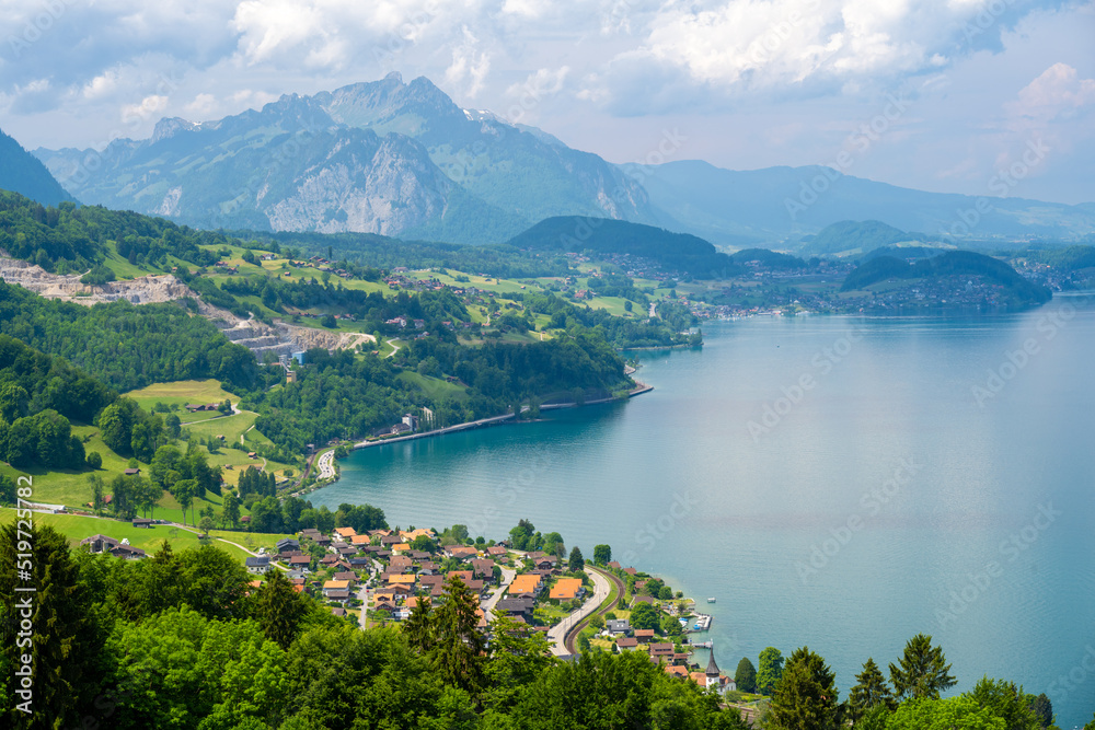
[(84, 202), (198, 228), (497, 243), (549, 218), (588, 216), (796, 251), (844, 220), (944, 241), (1095, 232), (1095, 204), (926, 193), (822, 166), (615, 165), (397, 73), (215, 121), (165, 118), (149, 139), (101, 152), (34, 153)]

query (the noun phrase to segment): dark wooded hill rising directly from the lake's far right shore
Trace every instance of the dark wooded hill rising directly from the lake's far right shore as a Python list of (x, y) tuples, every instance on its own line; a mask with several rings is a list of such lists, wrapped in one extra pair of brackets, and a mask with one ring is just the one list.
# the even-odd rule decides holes
[(1048, 302), (1049, 289), (1023, 278), (1007, 264), (971, 251), (948, 251), (914, 264), (891, 256), (873, 258), (853, 269), (844, 279), (841, 291), (864, 289), (887, 279), (919, 279), (943, 276), (980, 276), (1007, 288), (1019, 304)]

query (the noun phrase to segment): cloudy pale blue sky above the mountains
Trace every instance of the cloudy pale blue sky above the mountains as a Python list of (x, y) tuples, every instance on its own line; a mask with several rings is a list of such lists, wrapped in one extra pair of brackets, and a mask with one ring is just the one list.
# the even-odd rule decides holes
[(1095, 201), (1095, 0), (0, 0), (27, 149), (393, 71), (616, 163)]

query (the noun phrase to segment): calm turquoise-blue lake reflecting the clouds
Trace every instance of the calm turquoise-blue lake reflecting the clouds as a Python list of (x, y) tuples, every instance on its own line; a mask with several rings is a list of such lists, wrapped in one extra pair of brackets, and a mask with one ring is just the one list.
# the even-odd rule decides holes
[(702, 350), (643, 359), (650, 394), (368, 449), (312, 499), (494, 538), (528, 518), (587, 557), (609, 543), (701, 607), (717, 599), (731, 673), (808, 645), (843, 697), (868, 657), (885, 668), (923, 631), (957, 690), (1005, 677), (1046, 692), (1062, 728), (1090, 720), (1095, 301), (704, 334)]

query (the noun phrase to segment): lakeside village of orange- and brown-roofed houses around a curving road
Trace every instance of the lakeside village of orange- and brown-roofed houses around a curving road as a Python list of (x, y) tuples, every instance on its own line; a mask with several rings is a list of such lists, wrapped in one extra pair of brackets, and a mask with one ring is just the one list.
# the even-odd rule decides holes
[[(132, 524), (150, 528), (154, 522), (135, 519)], [(710, 641), (690, 641), (710, 627), (711, 616), (698, 613), (693, 600), (673, 593), (661, 580), (615, 560), (584, 561), (580, 552), (576, 565), (574, 555), (566, 560), (515, 549), (508, 541), (473, 542), (457, 534), (453, 538), (449, 531), (438, 535), (420, 528), (360, 534), (350, 526), (330, 534), (308, 529), (283, 537), (272, 551), (258, 548), (245, 565), (254, 576), (253, 589), (267, 571), (281, 570), (297, 592), (362, 629), (397, 626), (423, 601), (436, 607), (447, 599), (451, 581), (459, 580), (479, 598), (479, 629), (487, 639), (493, 621), (505, 616), (543, 633), (552, 653), (563, 660), (580, 650), (635, 651), (672, 676), (724, 695), (736, 691), (713, 650), (705, 667), (692, 662), (694, 647), (712, 648)], [(80, 544), (122, 559), (146, 557), (127, 540), (104, 534)]]

